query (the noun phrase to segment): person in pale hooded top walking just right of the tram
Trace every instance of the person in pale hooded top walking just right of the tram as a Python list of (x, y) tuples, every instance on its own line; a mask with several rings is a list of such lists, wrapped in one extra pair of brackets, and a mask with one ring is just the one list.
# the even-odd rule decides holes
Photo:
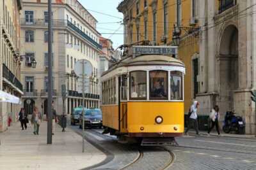
[(185, 134), (188, 135), (188, 131), (191, 128), (194, 128), (196, 131), (196, 134), (199, 135), (198, 132), (198, 120), (197, 120), (197, 109), (198, 109), (199, 103), (198, 101), (194, 101), (194, 103), (190, 107), (190, 116), (189, 116), (189, 123), (188, 123), (188, 128), (185, 131)]

